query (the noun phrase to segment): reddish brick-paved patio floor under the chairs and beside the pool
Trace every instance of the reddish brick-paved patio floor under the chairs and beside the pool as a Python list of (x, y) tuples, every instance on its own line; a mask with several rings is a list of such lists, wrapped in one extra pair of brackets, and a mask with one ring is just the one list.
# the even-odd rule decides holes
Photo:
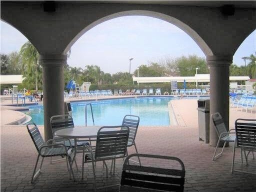
[[(184, 191), (256, 191), (256, 175), (240, 172), (231, 174), (231, 145), (225, 147), (220, 158), (211, 160), (214, 147), (198, 140), (196, 100), (173, 100), (172, 104), (175, 105), (174, 112), (180, 115), (185, 126), (139, 126), (135, 140), (138, 151), (179, 157), (186, 171)], [(230, 128), (234, 128), (236, 118), (255, 119), (256, 114), (230, 108)], [(81, 154), (77, 154), (79, 170), (74, 168), (75, 182), (69, 179), (64, 161), (50, 164), (49, 158), (45, 158), (42, 172), (34, 183), (30, 183), (37, 151), (25, 125), (2, 125), (0, 128), (1, 191), (92, 191), (91, 163), (85, 164), (85, 177), (83, 181), (80, 180)], [(43, 134), (43, 127), (39, 128)], [(129, 154), (134, 151), (133, 147), (128, 148)], [(249, 155), (248, 168), (256, 173), (255, 162), (252, 155)], [(116, 160), (116, 174), (106, 178), (102, 163), (97, 162), (97, 186), (119, 183), (122, 163), (122, 159)], [(168, 166), (163, 161), (153, 163)], [(110, 161), (108, 165), (110, 166)], [(246, 166), (240, 163), (238, 150), (235, 168), (246, 170)], [(97, 191), (118, 191), (118, 187)]]

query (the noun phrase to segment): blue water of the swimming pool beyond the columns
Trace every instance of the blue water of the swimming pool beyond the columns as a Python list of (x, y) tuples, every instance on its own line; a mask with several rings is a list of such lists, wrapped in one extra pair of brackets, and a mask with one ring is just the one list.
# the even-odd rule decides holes
[[(90, 102), (96, 125), (119, 125), (122, 123), (124, 115), (133, 114), (139, 116), (139, 125), (165, 126), (170, 124), (167, 102), (178, 98), (146, 96), (98, 101), (73, 101), (71, 102), (72, 117), (75, 125), (85, 125), (85, 103)], [(31, 121), (38, 125), (43, 125), (43, 107), (41, 105), (29, 106), (29, 111), (25, 113), (32, 117)], [(91, 112), (88, 106), (87, 125), (92, 125)]]

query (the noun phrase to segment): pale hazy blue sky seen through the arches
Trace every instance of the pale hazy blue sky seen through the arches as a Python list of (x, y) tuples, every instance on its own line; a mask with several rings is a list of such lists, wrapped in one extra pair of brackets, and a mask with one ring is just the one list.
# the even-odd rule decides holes
[[(27, 38), (17, 29), (0, 21), (1, 53), (19, 51), (26, 41)], [(236, 50), (233, 63), (244, 65), (241, 57), (255, 54), (255, 51), (256, 30)], [(148, 16), (122, 16), (85, 32), (72, 45), (67, 63), (83, 69), (85, 65), (98, 65), (105, 73), (113, 74), (129, 72), (129, 58), (133, 58), (130, 66), (132, 73), (141, 64), (192, 54), (205, 58), (194, 40), (175, 25)]]

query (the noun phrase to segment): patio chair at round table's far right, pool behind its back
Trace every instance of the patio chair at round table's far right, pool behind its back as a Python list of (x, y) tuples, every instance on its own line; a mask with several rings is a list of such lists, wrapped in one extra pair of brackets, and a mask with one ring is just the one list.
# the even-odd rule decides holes
[[(128, 138), (127, 147), (134, 145), (136, 153), (138, 153), (138, 151), (135, 143), (135, 137), (138, 129), (138, 124), (139, 124), (139, 116), (136, 116), (136, 115), (126, 114), (122, 119), (122, 125), (129, 127), (129, 138)], [(128, 155), (128, 151), (126, 151), (126, 153)], [(138, 157), (137, 163), (140, 164), (139, 157)]]

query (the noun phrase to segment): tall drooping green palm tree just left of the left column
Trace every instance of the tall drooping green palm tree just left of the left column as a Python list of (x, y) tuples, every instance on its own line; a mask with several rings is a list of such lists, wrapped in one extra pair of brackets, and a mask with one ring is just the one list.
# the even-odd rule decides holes
[[(35, 90), (38, 90), (38, 83), (41, 86), (41, 67), (38, 64), (38, 52), (30, 41), (27, 41), (20, 48), (19, 55), (22, 61), (23, 80), (27, 85), (35, 83)], [(38, 80), (40, 79), (40, 80)]]

